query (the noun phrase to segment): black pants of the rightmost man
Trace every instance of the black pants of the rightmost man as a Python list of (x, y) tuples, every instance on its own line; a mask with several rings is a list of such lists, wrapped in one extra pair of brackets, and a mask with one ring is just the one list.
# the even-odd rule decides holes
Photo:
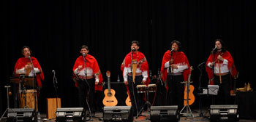
[(222, 84), (219, 82), (219, 76), (214, 76), (214, 84), (219, 85), (217, 105), (228, 105), (230, 100), (230, 75), (222, 76)]

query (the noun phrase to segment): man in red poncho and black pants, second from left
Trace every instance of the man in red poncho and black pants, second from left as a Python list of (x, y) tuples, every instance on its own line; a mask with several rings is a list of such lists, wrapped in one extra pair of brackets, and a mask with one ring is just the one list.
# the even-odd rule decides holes
[(88, 52), (88, 46), (80, 47), (80, 54), (82, 55), (75, 60), (73, 73), (77, 78), (75, 86), (78, 87), (79, 105), (90, 110), (90, 116), (93, 117), (95, 113), (94, 92), (95, 90), (102, 91), (103, 78), (97, 60)]

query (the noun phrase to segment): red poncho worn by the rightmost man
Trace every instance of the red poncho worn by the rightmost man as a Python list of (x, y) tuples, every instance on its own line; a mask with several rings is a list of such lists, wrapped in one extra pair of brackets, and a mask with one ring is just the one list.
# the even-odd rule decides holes
[[(213, 58), (214, 58), (215, 64), (217, 64), (218, 63), (217, 57), (219, 54), (222, 55), (222, 57), (228, 61), (227, 68), (229, 69), (231, 76), (234, 77), (237, 74), (236, 66), (234, 64), (234, 60), (233, 60), (233, 57), (231, 56), (230, 52), (226, 51), (226, 52), (216, 52), (215, 54), (210, 54), (210, 56), (208, 57), (208, 60), (206, 62), (206, 72), (208, 74), (208, 78), (210, 81), (209, 84), (211, 84), (211, 85), (214, 84), (214, 73), (213, 73), (213, 70), (207, 66), (207, 64), (209, 62), (213, 62)], [(223, 61), (219, 60), (219, 64), (222, 64), (222, 63), (223, 63)]]

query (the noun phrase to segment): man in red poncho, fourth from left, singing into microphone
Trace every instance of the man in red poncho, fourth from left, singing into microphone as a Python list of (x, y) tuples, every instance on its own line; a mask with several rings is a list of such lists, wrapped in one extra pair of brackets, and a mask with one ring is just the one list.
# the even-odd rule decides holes
[(174, 40), (170, 43), (170, 49), (162, 57), (162, 81), (166, 84), (167, 105), (178, 105), (181, 110), (184, 105), (184, 84), (189, 76), (189, 61), (184, 52), (181, 52), (181, 43)]

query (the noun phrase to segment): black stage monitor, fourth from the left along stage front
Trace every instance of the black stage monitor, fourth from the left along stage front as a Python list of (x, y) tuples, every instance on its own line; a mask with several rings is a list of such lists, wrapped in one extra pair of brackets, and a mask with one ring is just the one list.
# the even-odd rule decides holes
[(172, 106), (151, 106), (150, 107), (151, 121), (178, 121), (178, 105)]

